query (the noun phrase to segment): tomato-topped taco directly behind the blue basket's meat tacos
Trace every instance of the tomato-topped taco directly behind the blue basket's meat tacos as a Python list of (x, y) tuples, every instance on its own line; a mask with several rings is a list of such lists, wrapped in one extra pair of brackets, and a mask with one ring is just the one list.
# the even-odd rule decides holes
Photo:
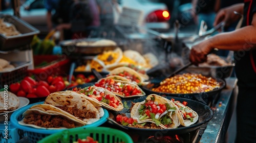
[(121, 111), (123, 109), (121, 100), (108, 89), (88, 86), (80, 89), (78, 92), (83, 93), (88, 99), (92, 99), (93, 102), (99, 103), (107, 109), (114, 111)]

